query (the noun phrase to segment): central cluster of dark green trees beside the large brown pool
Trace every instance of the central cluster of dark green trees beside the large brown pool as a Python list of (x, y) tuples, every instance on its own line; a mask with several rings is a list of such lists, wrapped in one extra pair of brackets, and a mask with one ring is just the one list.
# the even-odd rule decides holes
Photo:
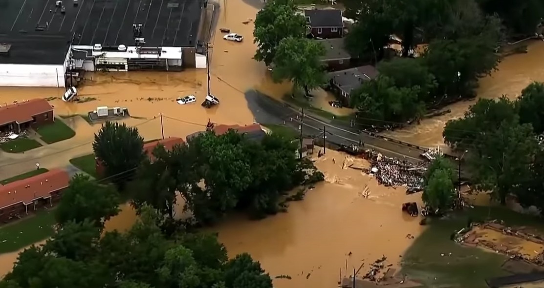
[(177, 193), (184, 209), (200, 224), (211, 224), (232, 210), (263, 217), (280, 211), (281, 197), (306, 181), (323, 180), (307, 161), (298, 161), (295, 145), (281, 135), (248, 139), (230, 130), (201, 134), (187, 145), (158, 147), (129, 187), (134, 205), (145, 203), (173, 216)]

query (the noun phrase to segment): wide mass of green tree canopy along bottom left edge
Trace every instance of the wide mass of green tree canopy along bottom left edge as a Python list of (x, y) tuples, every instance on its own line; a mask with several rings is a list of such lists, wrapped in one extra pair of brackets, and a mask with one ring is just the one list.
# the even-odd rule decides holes
[(89, 221), (66, 224), (45, 246), (21, 252), (0, 287), (273, 287), (259, 262), (248, 254), (228, 259), (212, 235), (166, 238), (157, 226), (161, 215), (143, 206), (131, 230), (102, 237)]

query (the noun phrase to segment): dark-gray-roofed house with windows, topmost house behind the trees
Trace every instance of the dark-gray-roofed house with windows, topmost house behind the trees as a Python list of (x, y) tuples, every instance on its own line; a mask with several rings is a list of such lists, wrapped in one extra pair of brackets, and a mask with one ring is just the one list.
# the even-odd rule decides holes
[(315, 38), (331, 39), (344, 36), (344, 21), (340, 9), (307, 9), (304, 10), (304, 17)]

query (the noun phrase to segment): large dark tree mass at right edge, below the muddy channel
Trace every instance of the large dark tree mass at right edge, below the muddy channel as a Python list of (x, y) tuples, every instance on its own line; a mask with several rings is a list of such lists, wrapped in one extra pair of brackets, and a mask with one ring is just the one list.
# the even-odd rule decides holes
[(450, 120), (444, 127), (446, 143), (467, 151), (475, 187), (491, 191), (503, 204), (508, 195), (518, 196), (522, 205), (530, 205), (531, 199), (542, 204), (536, 195), (542, 192), (536, 191), (544, 158), (535, 134), (542, 129), (541, 91), (542, 84), (532, 83), (516, 101), (480, 99), (465, 117)]

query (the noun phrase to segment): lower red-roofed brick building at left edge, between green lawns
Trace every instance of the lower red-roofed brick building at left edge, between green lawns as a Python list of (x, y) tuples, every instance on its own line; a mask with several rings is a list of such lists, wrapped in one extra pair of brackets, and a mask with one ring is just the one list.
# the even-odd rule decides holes
[(68, 173), (56, 169), (0, 186), (0, 221), (7, 223), (53, 206), (69, 183)]

